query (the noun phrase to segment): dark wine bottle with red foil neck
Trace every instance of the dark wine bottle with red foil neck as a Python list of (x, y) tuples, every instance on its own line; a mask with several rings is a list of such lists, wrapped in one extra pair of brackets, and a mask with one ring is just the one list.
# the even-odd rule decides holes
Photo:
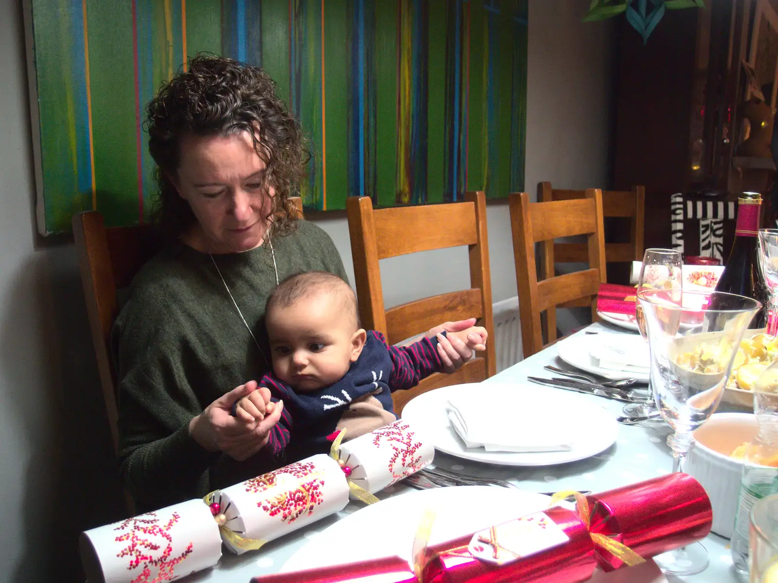
[(737, 293), (762, 302), (762, 310), (754, 316), (749, 328), (767, 325), (767, 286), (759, 269), (759, 192), (743, 192), (738, 197), (738, 223), (734, 231), (732, 251), (724, 266), (716, 291)]

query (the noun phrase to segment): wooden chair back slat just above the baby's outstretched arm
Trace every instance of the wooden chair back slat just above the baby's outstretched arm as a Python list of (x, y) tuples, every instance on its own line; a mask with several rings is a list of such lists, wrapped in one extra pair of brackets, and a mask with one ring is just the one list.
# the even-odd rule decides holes
[(444, 321), (482, 318), (481, 290), (441, 293), (386, 311), (387, 341), (397, 344)]

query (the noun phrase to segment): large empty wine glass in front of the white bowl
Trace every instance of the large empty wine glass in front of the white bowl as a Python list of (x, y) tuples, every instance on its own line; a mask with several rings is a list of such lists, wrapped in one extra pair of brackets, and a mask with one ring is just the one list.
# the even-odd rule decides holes
[[(668, 437), (673, 472), (692, 448), (692, 431), (716, 410), (740, 341), (762, 308), (733, 293), (645, 290), (637, 299), (646, 319), (651, 386), (662, 418), (675, 430)], [(699, 543), (654, 557), (665, 573), (689, 575), (708, 566)]]

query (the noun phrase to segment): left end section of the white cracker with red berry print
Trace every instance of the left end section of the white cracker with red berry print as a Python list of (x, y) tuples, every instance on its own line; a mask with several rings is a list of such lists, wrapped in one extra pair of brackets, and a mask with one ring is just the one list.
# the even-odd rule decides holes
[(183, 578), (222, 556), (219, 526), (202, 500), (82, 532), (79, 546), (86, 578), (106, 583)]

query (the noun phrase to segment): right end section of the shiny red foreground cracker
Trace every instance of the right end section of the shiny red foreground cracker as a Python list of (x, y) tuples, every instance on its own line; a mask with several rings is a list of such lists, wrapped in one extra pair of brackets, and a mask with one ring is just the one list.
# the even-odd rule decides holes
[[(676, 472), (587, 496), (591, 532), (608, 536), (643, 558), (696, 543), (710, 532), (713, 511), (703, 486)], [(596, 547), (603, 571), (622, 567), (619, 558)]]

